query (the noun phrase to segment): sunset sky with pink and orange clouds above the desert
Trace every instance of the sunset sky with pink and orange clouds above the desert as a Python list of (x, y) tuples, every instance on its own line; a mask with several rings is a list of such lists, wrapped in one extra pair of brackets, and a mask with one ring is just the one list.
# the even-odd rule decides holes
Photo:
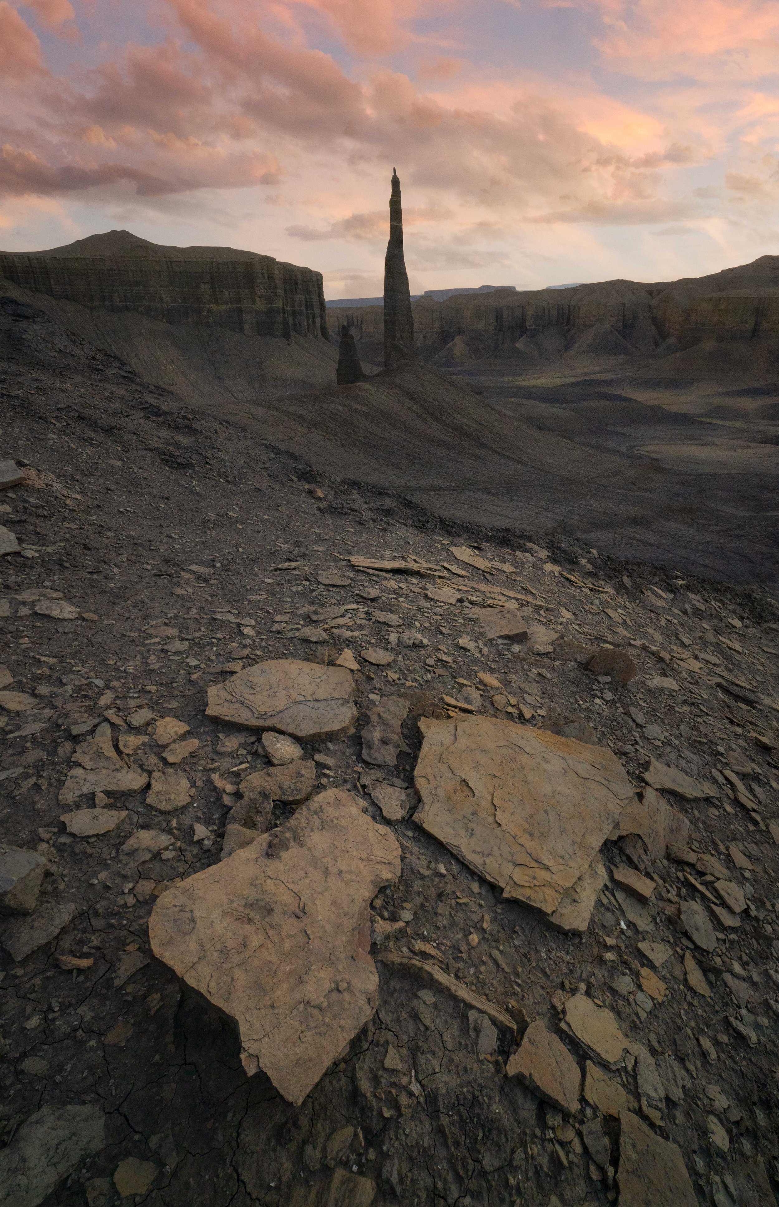
[(0, 0), (0, 246), (125, 228), (381, 293), (779, 255), (777, 0)]

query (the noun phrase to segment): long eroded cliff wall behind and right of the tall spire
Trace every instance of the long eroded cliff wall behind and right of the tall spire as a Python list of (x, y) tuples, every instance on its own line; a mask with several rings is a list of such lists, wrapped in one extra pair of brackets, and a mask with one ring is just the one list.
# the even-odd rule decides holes
[[(420, 298), (412, 311), (417, 350), (438, 365), (473, 363), (496, 354), (549, 358), (550, 349), (557, 356), (575, 354), (580, 340), (581, 351), (603, 346), (609, 355), (619, 342), (601, 338), (597, 345), (592, 338), (604, 327), (625, 340), (626, 354), (652, 355), (668, 340), (678, 349), (711, 340), (777, 342), (779, 256), (673, 282), (617, 280), (523, 293), (496, 290), (446, 302)], [(382, 308), (341, 310), (339, 317), (355, 331), (363, 358), (377, 361)]]

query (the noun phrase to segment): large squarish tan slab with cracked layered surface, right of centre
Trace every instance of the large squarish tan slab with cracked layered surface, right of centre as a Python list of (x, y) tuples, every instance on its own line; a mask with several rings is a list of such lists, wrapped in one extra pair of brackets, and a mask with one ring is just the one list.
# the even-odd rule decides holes
[(423, 718), (420, 729), (415, 821), (504, 897), (554, 912), (633, 797), (621, 763), (496, 717)]

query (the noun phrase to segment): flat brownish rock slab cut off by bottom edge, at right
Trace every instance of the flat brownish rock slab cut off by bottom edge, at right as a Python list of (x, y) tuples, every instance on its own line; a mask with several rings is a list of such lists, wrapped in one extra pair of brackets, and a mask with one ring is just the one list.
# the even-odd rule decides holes
[(698, 1207), (681, 1150), (629, 1110), (620, 1114), (616, 1177), (620, 1207)]

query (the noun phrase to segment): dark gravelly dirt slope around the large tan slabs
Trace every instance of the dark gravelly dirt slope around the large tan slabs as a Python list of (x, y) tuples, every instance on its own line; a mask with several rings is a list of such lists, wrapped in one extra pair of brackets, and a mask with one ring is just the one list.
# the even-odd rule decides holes
[[(496, 1027), (492, 1039), (484, 1013), (469, 1013), (423, 970), (381, 960), (396, 952), (445, 969), (500, 1007), (517, 1034), (543, 1020), (582, 1072), (592, 1054), (561, 1030), (561, 1011), (586, 993), (651, 1054), (662, 1091), (654, 1104), (634, 1061), (608, 1075), (657, 1136), (679, 1145), (698, 1202), (775, 1203), (777, 606), (756, 590), (621, 564), (574, 540), (540, 549), (533, 532), (457, 526), (188, 410), (24, 307), (8, 302), (0, 328), (0, 450), (30, 471), (0, 496), (0, 524), (20, 544), (0, 562), (1, 661), (12, 677), (0, 700), (33, 698), (0, 713), (0, 828), (5, 845), (47, 862), (30, 921), (72, 905), (51, 940), (18, 960), (0, 954), (0, 1161), (41, 1108), (93, 1103), (105, 1113), (105, 1144), (69, 1167), (45, 1207), (616, 1201), (619, 1119), (602, 1119), (614, 1179), (582, 1142), (582, 1127), (599, 1118), (592, 1103), (582, 1097), (572, 1121), (544, 1104), (506, 1075), (511, 1028)], [(509, 568), (457, 562), (449, 550), (463, 544)], [(464, 599), (430, 599), (438, 579), (359, 572), (352, 555), (453, 565), (468, 577), (449, 571), (447, 581)], [(333, 576), (345, 584), (321, 582)], [(558, 634), (551, 652), (482, 641), (473, 606), (490, 585), (521, 594), (528, 620)], [(47, 614), (58, 611), (52, 600), (72, 605), (64, 610), (72, 618)], [(323, 623), (327, 640), (299, 637), (309, 613), (328, 606), (344, 611)], [(625, 688), (599, 680), (579, 665), (576, 645), (623, 648), (638, 674)], [(392, 661), (365, 661), (371, 646)], [(295, 1108), (264, 1073), (246, 1077), (228, 1020), (152, 956), (147, 921), (165, 886), (219, 858), (230, 793), (212, 777), (238, 785), (266, 765), (257, 733), (205, 717), (209, 686), (269, 658), (332, 663), (345, 647), (361, 665), (356, 730), (304, 746), (324, 757), (317, 788), (355, 792), (386, 824), (359, 735), (377, 699), (408, 699), (404, 748), (392, 774), (385, 769), (385, 782), (411, 793), (410, 816), (393, 826), (402, 879), (371, 910), (376, 934), (388, 929), (380, 921), (400, 925), (371, 949), (375, 1016)], [(503, 704), (479, 672), (500, 681)], [(609, 879), (584, 935), (503, 899), (412, 821), (417, 721), (444, 716), (444, 695), (478, 688), (484, 713), (519, 724), (585, 718), (637, 788), (650, 758), (711, 781), (707, 799), (667, 793), (691, 823), (697, 864), (644, 861), (657, 888), (640, 910)], [(153, 774), (165, 765), (153, 740), (162, 717), (186, 723), (199, 742), (180, 765), (189, 803), (160, 814), (146, 789), (127, 793), (109, 806), (127, 810), (113, 830), (68, 834), (58, 795), (77, 745), (107, 718), (115, 744), (146, 739), (127, 760)], [(289, 816), (276, 805), (271, 824)], [(209, 836), (195, 840), (195, 824)], [(170, 842), (139, 865), (121, 849), (142, 829)], [(604, 844), (607, 870), (629, 862), (623, 842)], [(681, 921), (685, 902), (719, 900), (704, 856), (721, 861), (746, 899), (732, 925), (715, 923), (710, 951)], [(0, 944), (16, 926), (5, 920)], [(646, 941), (670, 949), (655, 969), (662, 1001), (643, 989)], [(74, 967), (70, 957), (92, 963)], [(708, 992), (692, 987), (685, 957)]]

